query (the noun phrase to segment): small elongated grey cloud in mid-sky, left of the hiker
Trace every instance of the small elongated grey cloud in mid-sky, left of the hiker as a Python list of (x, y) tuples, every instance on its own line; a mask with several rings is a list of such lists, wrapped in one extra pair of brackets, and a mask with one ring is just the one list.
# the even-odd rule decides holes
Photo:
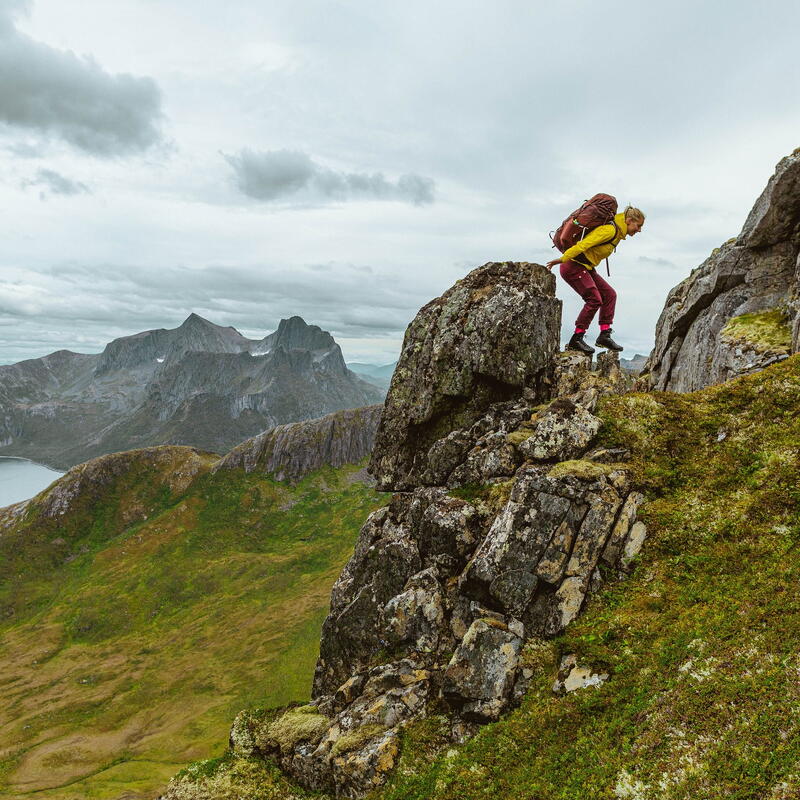
[(401, 175), (392, 182), (380, 172), (337, 172), (294, 150), (245, 148), (236, 155), (223, 155), (239, 190), (255, 200), (400, 200), (419, 206), (434, 199), (434, 182), (420, 175)]

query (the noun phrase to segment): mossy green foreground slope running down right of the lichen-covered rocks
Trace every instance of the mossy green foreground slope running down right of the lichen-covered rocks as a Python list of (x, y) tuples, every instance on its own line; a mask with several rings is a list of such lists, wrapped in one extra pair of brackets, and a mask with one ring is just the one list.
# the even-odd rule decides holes
[[(648, 497), (633, 575), (527, 646), (536, 677), (500, 722), (460, 747), (443, 718), (409, 727), (372, 800), (800, 797), (800, 356), (599, 413)], [(607, 683), (554, 695), (570, 653)], [(185, 773), (174, 796), (290, 790), (269, 764), (227, 756)]]

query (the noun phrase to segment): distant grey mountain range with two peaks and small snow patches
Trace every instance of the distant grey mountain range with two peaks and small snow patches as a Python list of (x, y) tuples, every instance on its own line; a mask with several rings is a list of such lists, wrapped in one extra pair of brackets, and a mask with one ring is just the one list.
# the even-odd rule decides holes
[(191, 314), (178, 328), (0, 366), (0, 455), (68, 468), (155, 444), (226, 452), (288, 422), (383, 400), (300, 317), (263, 339)]

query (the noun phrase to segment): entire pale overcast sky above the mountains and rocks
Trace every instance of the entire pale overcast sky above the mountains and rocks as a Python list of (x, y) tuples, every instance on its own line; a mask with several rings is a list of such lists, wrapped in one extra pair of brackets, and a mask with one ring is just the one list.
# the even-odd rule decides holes
[(610, 279), (647, 353), (800, 146), (798, 30), (790, 0), (0, 0), (0, 363), (191, 312), (390, 362), (601, 191), (648, 215)]

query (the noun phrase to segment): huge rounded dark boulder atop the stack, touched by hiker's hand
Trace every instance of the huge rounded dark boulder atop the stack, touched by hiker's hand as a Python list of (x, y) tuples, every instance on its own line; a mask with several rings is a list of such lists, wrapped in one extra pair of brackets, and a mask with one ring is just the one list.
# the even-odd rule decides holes
[(444, 483), (474, 440), (441, 440), (526, 387), (546, 397), (560, 308), (547, 269), (512, 262), (479, 267), (428, 303), (406, 331), (378, 428), (379, 488)]

